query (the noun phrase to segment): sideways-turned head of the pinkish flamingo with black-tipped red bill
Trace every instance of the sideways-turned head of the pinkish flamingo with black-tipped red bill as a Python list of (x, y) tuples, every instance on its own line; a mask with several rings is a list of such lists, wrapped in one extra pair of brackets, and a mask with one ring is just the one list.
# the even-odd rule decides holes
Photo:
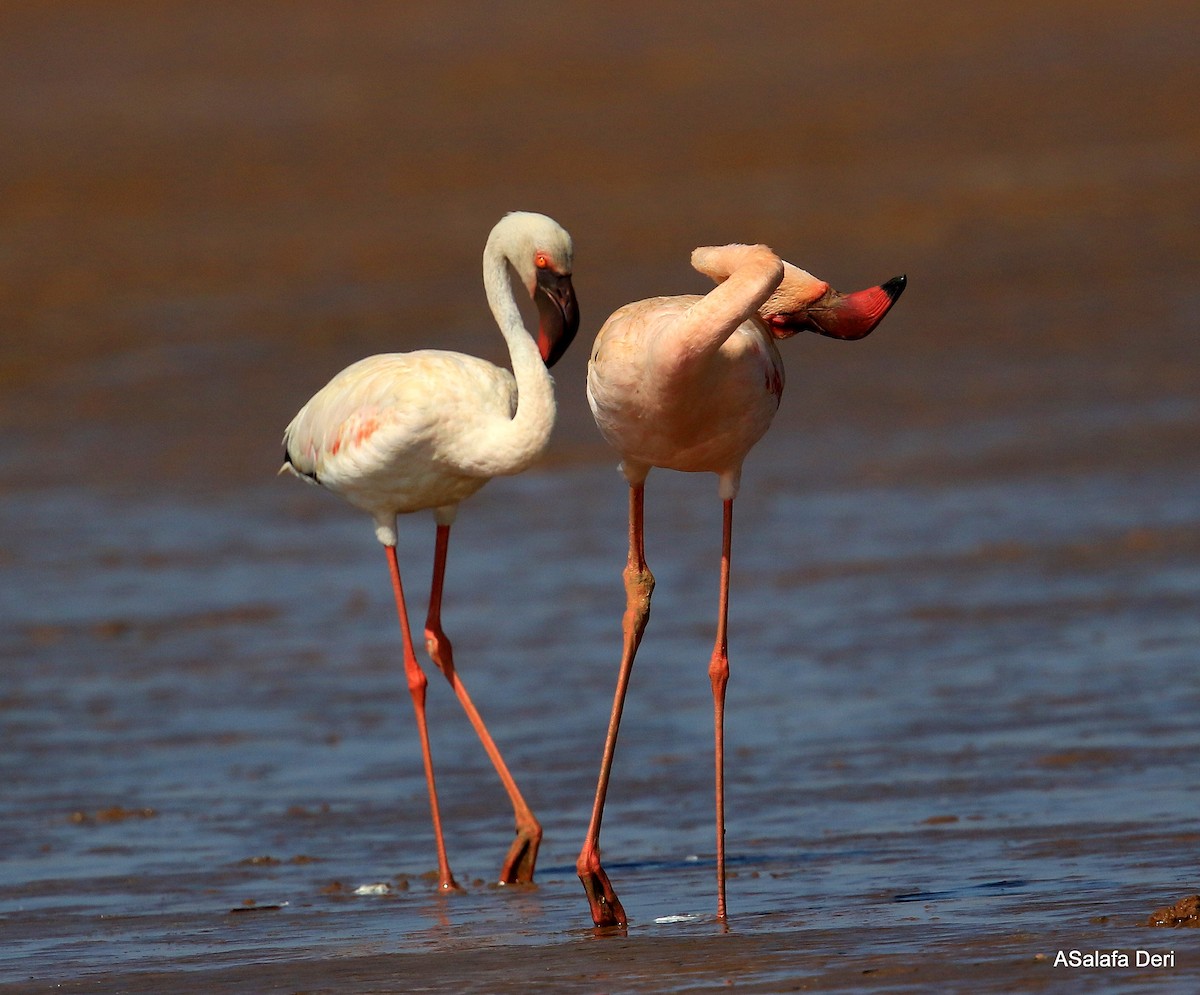
[(907, 284), (896, 276), (878, 287), (841, 294), (799, 266), (784, 263), (784, 280), (758, 314), (776, 338), (815, 331), (830, 338), (863, 338), (883, 320)]

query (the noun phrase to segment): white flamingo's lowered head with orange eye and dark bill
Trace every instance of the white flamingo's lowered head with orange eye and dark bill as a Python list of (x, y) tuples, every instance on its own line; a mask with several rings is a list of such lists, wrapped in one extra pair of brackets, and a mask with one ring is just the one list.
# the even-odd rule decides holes
[(571, 284), (575, 248), (571, 236), (544, 214), (512, 211), (497, 224), (517, 277), (538, 306), (538, 352), (553, 366), (580, 330), (580, 305)]

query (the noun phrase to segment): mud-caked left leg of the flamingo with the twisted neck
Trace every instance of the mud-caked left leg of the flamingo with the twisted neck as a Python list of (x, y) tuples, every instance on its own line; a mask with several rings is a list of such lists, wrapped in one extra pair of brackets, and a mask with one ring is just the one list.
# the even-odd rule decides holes
[(625, 925), (625, 910), (622, 909), (617, 893), (608, 882), (608, 875), (600, 865), (600, 822), (604, 817), (605, 796), (608, 793), (608, 775), (612, 772), (612, 759), (617, 751), (617, 730), (620, 726), (620, 713), (625, 706), (625, 691), (629, 689), (629, 676), (634, 669), (634, 657), (642, 642), (647, 619), (650, 617), (650, 595), (654, 593), (654, 575), (646, 565), (646, 544), (642, 527), (643, 485), (634, 484), (629, 490), (629, 562), (625, 564), (625, 617), (622, 622), (624, 648), (620, 658), (620, 671), (617, 677), (617, 694), (612, 702), (612, 717), (608, 720), (608, 735), (605, 738), (604, 757), (600, 761), (600, 783), (596, 785), (595, 803), (592, 807), (592, 822), (583, 840), (583, 849), (576, 862), (580, 881), (588, 895), (592, 907), (592, 919), (596, 925)]

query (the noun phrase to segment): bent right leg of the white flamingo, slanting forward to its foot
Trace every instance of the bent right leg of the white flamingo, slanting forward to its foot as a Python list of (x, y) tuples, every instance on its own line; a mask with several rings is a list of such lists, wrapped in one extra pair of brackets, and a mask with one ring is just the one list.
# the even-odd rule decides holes
[(508, 857), (505, 857), (504, 864), (500, 868), (500, 883), (529, 883), (533, 881), (533, 868), (538, 861), (538, 846), (541, 844), (541, 825), (534, 819), (529, 805), (526, 804), (526, 799), (517, 789), (512, 774), (509, 773), (509, 768), (504, 763), (504, 757), (500, 756), (500, 751), (487, 731), (487, 726), (484, 725), (484, 719), (470, 700), (470, 695), (467, 694), (467, 688), (458, 679), (458, 672), (454, 666), (454, 649), (450, 646), (450, 640), (446, 639), (446, 634), (442, 630), (442, 588), (445, 581), (446, 547), (449, 543), (450, 526), (439, 525), (433, 552), (433, 583), (430, 588), (430, 613), (425, 619), (425, 647), (428, 649), (430, 658), (437, 664), (438, 670), (445, 675), (446, 681), (450, 682), (450, 687), (454, 688), (455, 695), (457, 695), (458, 701), (462, 703), (467, 718), (470, 720), (472, 726), (474, 726), (480, 742), (484, 744), (484, 750), (491, 757), (496, 767), (496, 773), (500, 775), (504, 790), (509, 792), (509, 798), (512, 802), (512, 813), (516, 817), (516, 839), (512, 841)]

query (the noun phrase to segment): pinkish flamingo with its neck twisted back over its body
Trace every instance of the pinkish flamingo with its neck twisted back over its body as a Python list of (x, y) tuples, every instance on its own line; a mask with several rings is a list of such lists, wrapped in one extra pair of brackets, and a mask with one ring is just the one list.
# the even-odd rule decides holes
[(629, 676), (654, 591), (642, 533), (646, 478), (652, 467), (715, 473), (724, 502), (716, 642), (708, 667), (716, 759), (716, 915), (724, 921), (724, 725), (733, 498), (742, 463), (770, 426), (784, 390), (784, 364), (774, 340), (800, 330), (862, 338), (906, 283), (898, 276), (880, 287), (839, 294), (762, 245), (697, 248), (691, 264), (719, 286), (702, 298), (652, 298), (625, 305), (600, 329), (588, 364), (592, 413), (620, 454), (630, 487), (624, 648), (592, 821), (576, 865), (596, 925), (626, 923), (600, 865), (600, 822)]

